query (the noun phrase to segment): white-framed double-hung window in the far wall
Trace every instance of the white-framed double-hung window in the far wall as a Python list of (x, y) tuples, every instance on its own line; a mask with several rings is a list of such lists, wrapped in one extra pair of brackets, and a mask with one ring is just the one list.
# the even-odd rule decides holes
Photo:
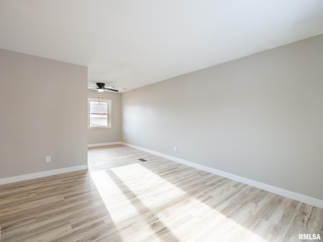
[(111, 128), (111, 100), (88, 98), (87, 127)]

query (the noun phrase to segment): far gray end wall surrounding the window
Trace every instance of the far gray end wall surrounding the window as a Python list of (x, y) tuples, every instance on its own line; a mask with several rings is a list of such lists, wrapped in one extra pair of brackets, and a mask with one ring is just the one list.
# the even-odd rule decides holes
[(103, 92), (98, 94), (96, 90), (88, 90), (88, 97), (112, 100), (112, 127), (106, 129), (88, 129), (88, 144), (100, 144), (121, 141), (121, 94)]

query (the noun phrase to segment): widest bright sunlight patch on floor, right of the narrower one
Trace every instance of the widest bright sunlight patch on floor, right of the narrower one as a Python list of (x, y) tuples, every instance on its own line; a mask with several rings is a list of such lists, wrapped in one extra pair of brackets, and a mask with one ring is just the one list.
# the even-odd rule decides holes
[(266, 241), (138, 163), (112, 171), (180, 241)]

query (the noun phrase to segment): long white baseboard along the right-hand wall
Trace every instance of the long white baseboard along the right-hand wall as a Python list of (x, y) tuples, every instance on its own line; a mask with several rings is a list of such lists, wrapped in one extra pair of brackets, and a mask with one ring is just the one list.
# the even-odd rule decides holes
[(145, 152), (153, 154), (153, 155), (164, 157), (166, 159), (173, 160), (173, 161), (176, 161), (176, 162), (184, 164), (184, 165), (188, 165), (188, 166), (200, 169), (200, 170), (204, 170), (204, 171), (216, 174), (216, 175), (220, 175), (220, 176), (232, 179), (232, 180), (236, 180), (236, 181), (239, 181), (240, 183), (244, 183), (244, 184), (250, 185), (250, 186), (255, 187), (255, 188), (259, 188), (259, 189), (262, 189), (262, 190), (265, 190), (265, 191), (268, 191), (268, 192), (271, 192), (271, 193), (275, 193), (275, 194), (278, 194), (278, 195), (281, 195), (281, 196), (284, 196), (284, 197), (287, 197), (287, 198), (291, 198), (291, 199), (294, 199), (296, 201), (306, 203), (306, 204), (309, 204), (309, 205), (312, 205), (312, 206), (315, 206), (315, 207), (323, 209), (323, 201), (319, 200), (319, 199), (316, 199), (316, 198), (308, 197), (308, 196), (303, 195), (303, 194), (299, 194), (299, 193), (295, 193), (295, 192), (285, 190), (285, 189), (282, 189), (282, 188), (274, 187), (274, 186), (271, 186), (271, 185), (268, 185), (268, 184), (265, 184), (265, 183), (260, 183), (259, 181), (256, 181), (256, 180), (251, 180), (251, 179), (248, 179), (248, 178), (245, 178), (245, 177), (242, 177), (242, 176), (231, 174), (231, 173), (228, 173), (228, 172), (225, 172), (225, 171), (222, 171), (222, 170), (217, 170), (217, 169), (214, 169), (214, 168), (211, 168), (211, 167), (208, 167), (208, 166), (200, 165), (200, 164), (197, 164), (197, 163), (194, 163), (194, 162), (190, 162), (190, 161), (187, 161), (187, 160), (184, 160), (184, 159), (180, 159), (180, 158), (177, 158), (177, 157), (174, 157), (174, 156), (171, 156), (171, 155), (166, 155), (166, 154), (163, 154), (163, 153), (159, 153), (157, 151), (145, 149), (145, 148), (142, 148), (142, 147), (139, 147), (139, 146), (127, 144), (127, 143), (124, 143), (124, 142), (121, 142), (121, 144), (125, 145), (125, 146), (135, 148), (135, 149), (138, 149), (138, 150), (145, 151)]

